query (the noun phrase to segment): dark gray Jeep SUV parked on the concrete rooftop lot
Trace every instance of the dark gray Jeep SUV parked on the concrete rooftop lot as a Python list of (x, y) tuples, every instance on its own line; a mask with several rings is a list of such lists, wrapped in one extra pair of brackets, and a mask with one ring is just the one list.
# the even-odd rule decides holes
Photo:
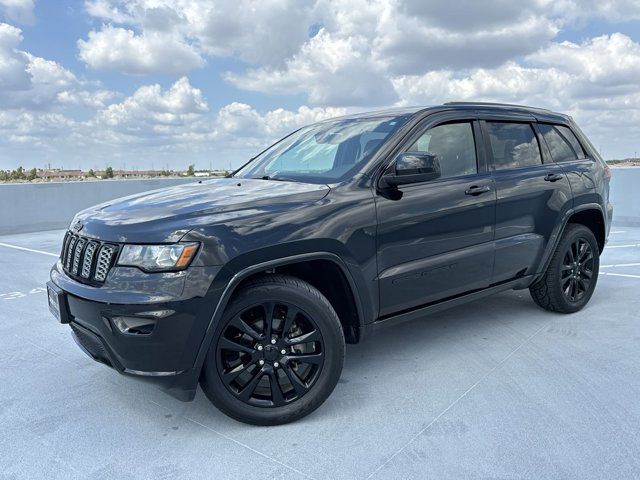
[(323, 121), (230, 177), (80, 212), (48, 283), (78, 345), (223, 412), (292, 421), (346, 343), (508, 289), (572, 313), (612, 216), (610, 170), (571, 118), (450, 103)]

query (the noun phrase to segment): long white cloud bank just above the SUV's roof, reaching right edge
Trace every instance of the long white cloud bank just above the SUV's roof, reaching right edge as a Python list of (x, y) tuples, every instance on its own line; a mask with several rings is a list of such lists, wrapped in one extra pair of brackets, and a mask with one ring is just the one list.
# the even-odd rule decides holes
[(495, 69), (403, 75), (393, 82), (405, 104), (494, 100), (572, 109), (589, 99), (628, 100), (640, 93), (640, 44), (619, 33), (551, 44), (526, 61), (526, 66), (510, 61)]

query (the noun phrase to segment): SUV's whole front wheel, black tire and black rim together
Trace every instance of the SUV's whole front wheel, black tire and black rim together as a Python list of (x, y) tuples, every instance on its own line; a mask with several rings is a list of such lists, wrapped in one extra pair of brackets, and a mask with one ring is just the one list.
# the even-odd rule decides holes
[(225, 309), (203, 366), (202, 389), (236, 420), (280, 425), (327, 399), (344, 355), (342, 326), (324, 295), (298, 278), (265, 275), (242, 287)]

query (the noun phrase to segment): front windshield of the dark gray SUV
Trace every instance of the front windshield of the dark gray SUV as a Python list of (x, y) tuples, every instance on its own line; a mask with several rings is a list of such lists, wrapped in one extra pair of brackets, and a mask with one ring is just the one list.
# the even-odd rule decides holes
[(351, 118), (304, 127), (272, 145), (234, 177), (339, 182), (353, 175), (408, 118)]

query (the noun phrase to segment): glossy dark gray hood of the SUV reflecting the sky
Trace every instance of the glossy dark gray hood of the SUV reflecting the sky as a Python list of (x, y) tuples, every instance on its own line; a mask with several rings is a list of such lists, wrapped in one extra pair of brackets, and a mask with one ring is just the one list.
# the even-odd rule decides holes
[(112, 242), (175, 242), (207, 217), (287, 208), (322, 199), (327, 185), (221, 178), (131, 195), (83, 210), (71, 223), (81, 235)]

